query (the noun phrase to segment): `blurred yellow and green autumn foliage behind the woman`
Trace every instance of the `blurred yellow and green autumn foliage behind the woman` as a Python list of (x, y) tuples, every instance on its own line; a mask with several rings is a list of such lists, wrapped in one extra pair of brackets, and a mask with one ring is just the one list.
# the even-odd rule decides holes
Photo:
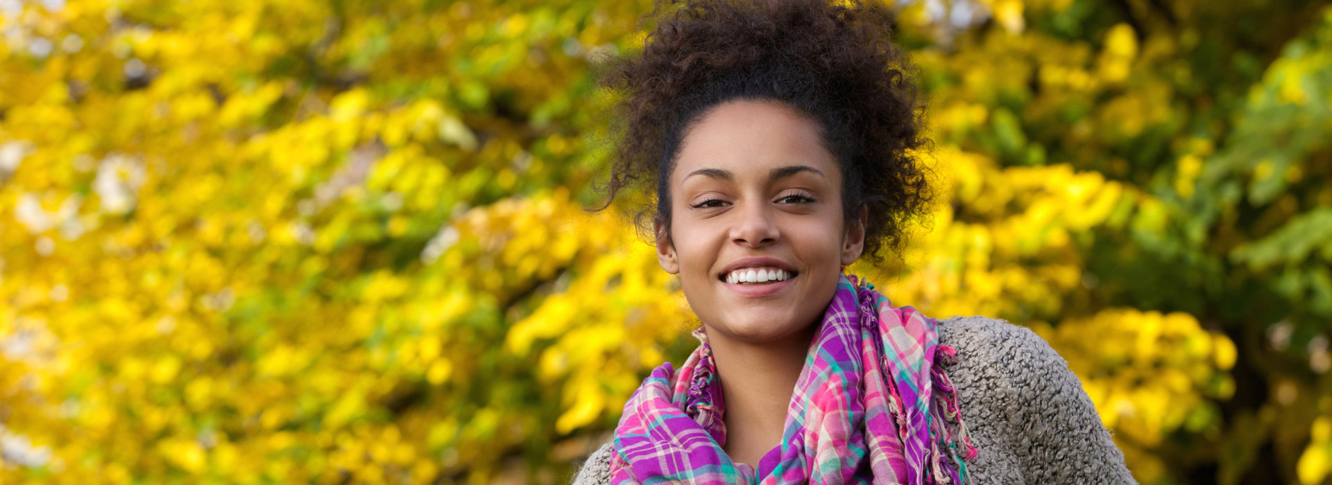
[[(615, 210), (645, 0), (0, 0), (0, 482), (561, 484), (693, 318)], [(1332, 470), (1332, 7), (902, 1), (896, 304), (1028, 326), (1144, 484)]]

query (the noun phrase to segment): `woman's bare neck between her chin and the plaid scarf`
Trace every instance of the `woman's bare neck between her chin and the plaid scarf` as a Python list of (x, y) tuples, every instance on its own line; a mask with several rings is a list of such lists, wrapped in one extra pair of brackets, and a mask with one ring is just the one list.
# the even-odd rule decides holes
[(795, 381), (801, 379), (817, 330), (814, 324), (798, 335), (765, 343), (709, 334), (726, 403), (723, 449), (731, 461), (757, 469), (758, 460), (782, 442)]

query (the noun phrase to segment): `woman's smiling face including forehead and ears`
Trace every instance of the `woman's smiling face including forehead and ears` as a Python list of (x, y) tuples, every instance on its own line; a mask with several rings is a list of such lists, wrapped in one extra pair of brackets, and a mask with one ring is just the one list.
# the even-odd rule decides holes
[(685, 136), (669, 182), (658, 262), (714, 339), (802, 335), (860, 256), (863, 223), (844, 230), (842, 173), (819, 125), (783, 104), (713, 108)]

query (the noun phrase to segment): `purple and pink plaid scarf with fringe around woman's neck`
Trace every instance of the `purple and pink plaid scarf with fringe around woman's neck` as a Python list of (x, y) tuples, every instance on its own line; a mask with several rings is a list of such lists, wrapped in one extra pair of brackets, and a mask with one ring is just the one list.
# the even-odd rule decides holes
[(703, 330), (694, 336), (701, 345), (679, 372), (662, 364), (625, 404), (613, 484), (970, 482), (962, 458), (976, 450), (942, 369), (955, 351), (939, 345), (934, 319), (894, 307), (874, 284), (838, 282), (791, 396), (781, 456), (758, 470), (722, 450), (717, 365)]

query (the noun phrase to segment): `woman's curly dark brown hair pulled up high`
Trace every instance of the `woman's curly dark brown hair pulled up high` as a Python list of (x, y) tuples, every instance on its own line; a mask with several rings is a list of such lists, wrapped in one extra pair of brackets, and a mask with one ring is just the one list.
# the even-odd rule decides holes
[[(890, 40), (892, 11), (858, 0), (659, 0), (641, 54), (605, 64), (601, 88), (617, 96), (614, 165), (605, 209), (625, 189), (646, 190), (643, 234), (670, 234), (669, 181), (682, 138), (731, 100), (778, 101), (817, 121), (842, 169), (842, 211), (868, 209), (864, 255), (900, 248), (903, 225), (928, 210), (934, 191), (919, 153), (923, 104), (916, 69)], [(657, 234), (661, 237), (661, 234)]]

